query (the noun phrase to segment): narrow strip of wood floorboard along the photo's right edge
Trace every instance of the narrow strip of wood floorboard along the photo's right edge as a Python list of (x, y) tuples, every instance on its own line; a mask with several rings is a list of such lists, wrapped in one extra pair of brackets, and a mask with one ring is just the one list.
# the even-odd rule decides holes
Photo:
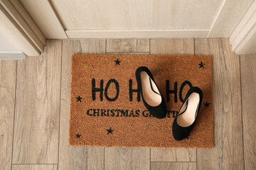
[(241, 55), (240, 63), (245, 169), (256, 169), (256, 53)]

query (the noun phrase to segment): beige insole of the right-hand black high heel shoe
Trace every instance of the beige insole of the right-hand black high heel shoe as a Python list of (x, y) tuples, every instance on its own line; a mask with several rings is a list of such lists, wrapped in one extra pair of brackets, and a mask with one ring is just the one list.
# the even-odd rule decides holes
[[(188, 127), (192, 125), (192, 123), (195, 121), (196, 111), (200, 102), (199, 94), (191, 94), (186, 102), (188, 102), (188, 106), (186, 106), (186, 103), (183, 105), (184, 107), (186, 107), (186, 111), (184, 111), (183, 113), (181, 112), (181, 114), (178, 115), (177, 118), (177, 123), (181, 127)], [(181, 110), (183, 110), (183, 108), (181, 108)]]

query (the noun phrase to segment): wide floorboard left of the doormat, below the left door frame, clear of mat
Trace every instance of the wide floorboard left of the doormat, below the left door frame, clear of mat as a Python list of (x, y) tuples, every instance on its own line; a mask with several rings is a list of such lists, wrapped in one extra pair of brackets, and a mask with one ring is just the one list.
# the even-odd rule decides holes
[(61, 45), (18, 61), (13, 164), (58, 163)]

